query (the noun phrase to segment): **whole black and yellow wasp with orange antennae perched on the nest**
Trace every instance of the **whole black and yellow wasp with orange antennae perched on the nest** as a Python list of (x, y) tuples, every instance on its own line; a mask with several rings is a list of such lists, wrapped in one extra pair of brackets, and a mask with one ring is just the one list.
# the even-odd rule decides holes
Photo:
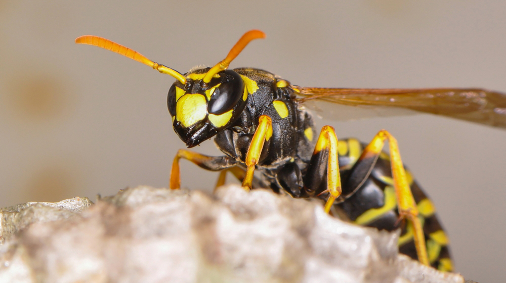
[[(378, 229), (401, 229), (401, 253), (451, 271), (447, 235), (433, 203), (404, 167), (397, 140), (386, 130), (368, 144), (355, 138), (338, 140), (330, 126), (317, 135), (305, 105), (322, 101), (401, 108), (506, 128), (506, 95), (476, 88), (301, 87), (261, 69), (228, 69), (245, 46), (259, 38), (265, 38), (262, 31), (248, 31), (224, 60), (185, 74), (105, 38), (85, 35), (75, 42), (119, 53), (176, 78), (167, 96), (174, 130), (188, 148), (215, 137), (225, 155), (179, 150), (171, 189), (180, 188), (179, 161), (187, 159), (221, 171), (217, 187), (231, 172), (245, 190), (266, 187), (294, 198), (319, 198), (334, 216)], [(383, 151), (386, 141), (389, 153)]]

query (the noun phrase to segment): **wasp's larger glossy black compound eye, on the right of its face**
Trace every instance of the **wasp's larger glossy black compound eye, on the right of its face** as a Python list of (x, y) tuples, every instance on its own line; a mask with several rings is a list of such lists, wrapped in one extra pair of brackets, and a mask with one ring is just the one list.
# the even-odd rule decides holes
[(232, 110), (244, 94), (244, 81), (236, 71), (225, 70), (219, 74), (221, 84), (215, 89), (207, 104), (207, 112), (214, 115)]

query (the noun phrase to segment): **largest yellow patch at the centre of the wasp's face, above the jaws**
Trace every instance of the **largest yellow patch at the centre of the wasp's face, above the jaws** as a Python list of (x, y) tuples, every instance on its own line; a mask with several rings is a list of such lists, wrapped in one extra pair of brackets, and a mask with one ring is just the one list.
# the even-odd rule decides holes
[(176, 103), (176, 119), (183, 126), (189, 127), (205, 118), (207, 114), (207, 104), (205, 97), (198, 93), (186, 94)]

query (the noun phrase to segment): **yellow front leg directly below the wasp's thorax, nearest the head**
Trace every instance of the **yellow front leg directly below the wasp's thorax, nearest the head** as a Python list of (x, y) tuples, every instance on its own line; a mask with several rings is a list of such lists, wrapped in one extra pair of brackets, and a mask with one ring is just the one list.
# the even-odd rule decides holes
[(246, 153), (246, 176), (242, 181), (242, 186), (246, 191), (251, 188), (251, 182), (253, 181), (253, 173), (255, 172), (255, 165), (258, 164), (260, 154), (264, 148), (264, 141), (269, 140), (272, 136), (272, 121), (269, 116), (262, 115), (259, 118), (259, 125), (251, 143), (249, 144), (248, 152)]

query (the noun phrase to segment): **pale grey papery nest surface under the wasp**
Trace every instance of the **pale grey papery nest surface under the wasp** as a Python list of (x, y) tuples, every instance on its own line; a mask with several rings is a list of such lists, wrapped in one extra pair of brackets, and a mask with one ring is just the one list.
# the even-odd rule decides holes
[(319, 203), (141, 186), (4, 208), (0, 282), (463, 282), (397, 252), (397, 233)]

